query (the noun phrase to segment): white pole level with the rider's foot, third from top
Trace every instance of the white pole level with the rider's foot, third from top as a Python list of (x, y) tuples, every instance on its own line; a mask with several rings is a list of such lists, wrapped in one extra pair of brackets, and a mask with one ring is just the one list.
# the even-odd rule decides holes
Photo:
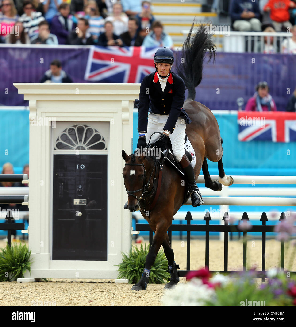
[[(202, 205), (296, 205), (296, 198), (202, 198)], [(189, 199), (186, 204), (191, 204)]]

